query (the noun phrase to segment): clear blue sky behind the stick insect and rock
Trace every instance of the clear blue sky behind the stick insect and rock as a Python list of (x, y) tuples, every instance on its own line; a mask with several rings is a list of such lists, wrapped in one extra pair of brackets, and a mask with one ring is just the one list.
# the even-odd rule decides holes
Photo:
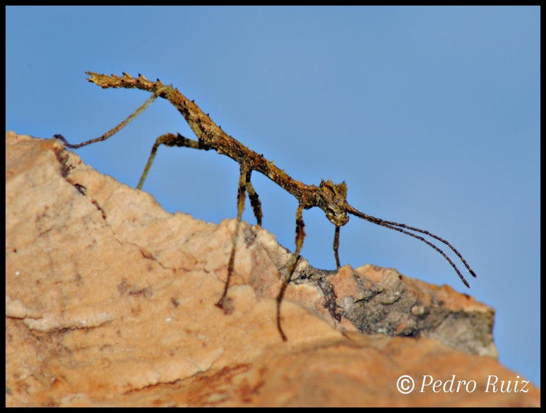
[[(540, 8), (6, 8), (6, 130), (81, 142), (148, 97), (88, 70), (172, 83), (295, 179), (345, 181), (356, 209), (447, 238), (470, 290), (424, 243), (356, 217), (340, 259), (495, 307), (499, 359), (540, 385)], [(194, 137), (161, 100), (78, 154), (135, 186), (157, 136)], [(144, 190), (220, 222), (237, 181), (226, 156), (162, 147)], [(295, 198), (253, 182), (263, 226), (293, 250)], [(333, 225), (320, 209), (304, 220), (302, 254), (333, 269)]]

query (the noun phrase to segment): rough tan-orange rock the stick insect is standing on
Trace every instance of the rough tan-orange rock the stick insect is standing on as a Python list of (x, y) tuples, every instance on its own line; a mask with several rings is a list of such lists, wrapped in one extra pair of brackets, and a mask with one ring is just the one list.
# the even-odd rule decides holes
[[(490, 357), (493, 309), (395, 270), (301, 259), (283, 343), (290, 252), (245, 223), (225, 314), (234, 224), (169, 214), (54, 140), (6, 133), (6, 406), (540, 405)], [(477, 387), (420, 392), (424, 375)]]

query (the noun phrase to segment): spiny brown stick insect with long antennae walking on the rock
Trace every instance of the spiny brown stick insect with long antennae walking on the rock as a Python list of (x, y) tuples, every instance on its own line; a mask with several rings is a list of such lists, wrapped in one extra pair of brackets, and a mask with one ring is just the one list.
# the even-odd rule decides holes
[(431, 243), (423, 236), (418, 234), (424, 234), (430, 236), (431, 238), (444, 243), (449, 247), (456, 255), (461, 259), (465, 267), (468, 269), (472, 276), (476, 277), (476, 274), (467, 264), (463, 256), (443, 238), (432, 234), (431, 232), (425, 231), (423, 229), (411, 227), (409, 225), (400, 224), (398, 222), (392, 222), (388, 220), (383, 220), (381, 218), (375, 218), (369, 216), (366, 213), (358, 211), (347, 203), (347, 185), (345, 182), (341, 184), (334, 184), (330, 179), (328, 181), (322, 180), (320, 186), (315, 185), (306, 185), (300, 181), (292, 179), (284, 170), (276, 167), (272, 162), (267, 161), (261, 154), (251, 151), (248, 147), (242, 145), (227, 133), (225, 133), (222, 128), (218, 127), (213, 120), (206, 115), (194, 101), (190, 101), (184, 95), (179, 92), (176, 88), (172, 86), (166, 86), (159, 79), (157, 81), (149, 81), (141, 74), (138, 75), (138, 78), (133, 78), (129, 74), (124, 73), (123, 76), (117, 76), (113, 74), (108, 76), (106, 74), (98, 74), (94, 72), (86, 72), (91, 77), (88, 78), (88, 81), (101, 86), (101, 88), (135, 88), (140, 90), (146, 90), (147, 92), (152, 92), (152, 95), (142, 104), (136, 111), (131, 113), (126, 120), (118, 124), (110, 131), (106, 132), (103, 136), (99, 138), (94, 138), (91, 140), (86, 140), (83, 143), (78, 143), (76, 145), (71, 145), (67, 142), (63, 136), (55, 135), (54, 138), (62, 140), (65, 146), (77, 149), (85, 145), (90, 145), (91, 143), (100, 142), (101, 140), (106, 140), (113, 136), (117, 131), (125, 127), (131, 120), (135, 119), (142, 111), (144, 111), (154, 100), (158, 97), (163, 97), (167, 99), (171, 104), (176, 107), (179, 112), (183, 115), (184, 119), (190, 125), (192, 131), (194, 131), (197, 136), (197, 140), (192, 140), (185, 138), (180, 133), (176, 135), (174, 133), (165, 133), (156, 139), (156, 143), (151, 149), (151, 154), (149, 156), (148, 162), (142, 173), (142, 177), (138, 183), (137, 188), (141, 189), (144, 181), (148, 175), (151, 164), (154, 162), (156, 157), (157, 149), (160, 145), (165, 145), (167, 147), (191, 147), (194, 149), (210, 150), (214, 149), (217, 153), (229, 156), (231, 159), (239, 163), (240, 167), (240, 176), (239, 176), (239, 185), (237, 193), (237, 220), (235, 223), (235, 232), (233, 233), (231, 254), (229, 256), (228, 264), (228, 274), (226, 279), (226, 284), (224, 285), (224, 292), (222, 297), (216, 303), (217, 307), (224, 309), (226, 304), (226, 297), (229, 289), (229, 282), (231, 276), (233, 275), (233, 264), (235, 262), (235, 246), (237, 245), (237, 240), (239, 236), (240, 223), (242, 218), (242, 212), (245, 209), (245, 197), (246, 193), (249, 194), (249, 200), (251, 207), (254, 211), (254, 216), (256, 216), (256, 221), (259, 226), (262, 223), (262, 211), (261, 203), (258, 198), (258, 194), (254, 191), (254, 187), (251, 184), (250, 177), (252, 171), (260, 172), (266, 177), (270, 178), (275, 184), (281, 186), (285, 191), (291, 193), (296, 197), (299, 204), (296, 210), (296, 250), (290, 259), (288, 264), (287, 271), (284, 275), (281, 275), (281, 288), (279, 289), (279, 294), (276, 297), (276, 326), (279, 330), (283, 341), (287, 341), (286, 334), (283, 332), (281, 326), (281, 302), (283, 300), (286, 287), (290, 282), (290, 277), (295, 270), (297, 261), (299, 259), (299, 252), (301, 247), (304, 244), (305, 232), (304, 232), (304, 218), (303, 211), (304, 209), (311, 209), (313, 206), (318, 206), (324, 213), (326, 213), (326, 218), (336, 226), (333, 238), (333, 254), (336, 259), (336, 266), (340, 268), (340, 259), (338, 254), (339, 248), (339, 238), (340, 238), (340, 227), (347, 224), (349, 221), (349, 216), (351, 214), (362, 218), (364, 220), (370, 221), (374, 224), (381, 225), (389, 229), (394, 229), (395, 231), (402, 232), (403, 234), (413, 236), (418, 240), (426, 243), (431, 248), (434, 248), (437, 252), (442, 254), (447, 262), (454, 268), (456, 273), (461, 280), (470, 288), (467, 280), (461, 273), (461, 271), (454, 264), (452, 259), (447, 257), (445, 252), (440, 250), (436, 245)]

